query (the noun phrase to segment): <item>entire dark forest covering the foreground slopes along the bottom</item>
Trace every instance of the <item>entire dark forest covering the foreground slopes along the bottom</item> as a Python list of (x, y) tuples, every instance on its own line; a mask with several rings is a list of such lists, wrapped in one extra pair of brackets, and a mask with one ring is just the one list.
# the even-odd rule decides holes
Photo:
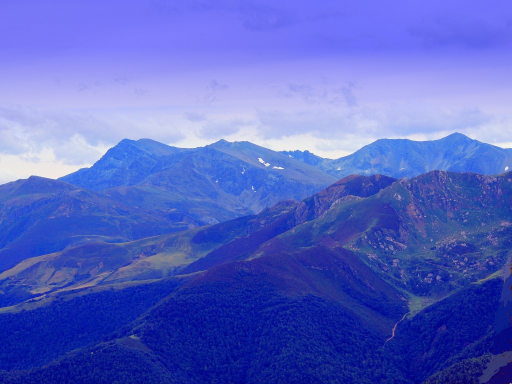
[(1, 315), (3, 369), (26, 370), (0, 373), (0, 381), (477, 382), (502, 281), (433, 304), (401, 322), (386, 345), (389, 335), (371, 318), (262, 282), (185, 286), (140, 316), (175, 288), (147, 284)]

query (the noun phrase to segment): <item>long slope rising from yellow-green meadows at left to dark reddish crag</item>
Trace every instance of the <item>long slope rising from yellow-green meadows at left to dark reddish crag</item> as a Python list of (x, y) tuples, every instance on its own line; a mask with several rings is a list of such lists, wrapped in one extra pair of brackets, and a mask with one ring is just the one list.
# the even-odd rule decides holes
[[(339, 199), (369, 196), (394, 181), (380, 176), (347, 177), (301, 204), (285, 201), (258, 215), (135, 241), (100, 237), (78, 241), (76, 237), (77, 243), (66, 249), (27, 258), (0, 273), (4, 291), (0, 303), (10, 305), (63, 289), (160, 279), (243, 259), (265, 241), (317, 218)], [(190, 263), (191, 268), (186, 267)]]

